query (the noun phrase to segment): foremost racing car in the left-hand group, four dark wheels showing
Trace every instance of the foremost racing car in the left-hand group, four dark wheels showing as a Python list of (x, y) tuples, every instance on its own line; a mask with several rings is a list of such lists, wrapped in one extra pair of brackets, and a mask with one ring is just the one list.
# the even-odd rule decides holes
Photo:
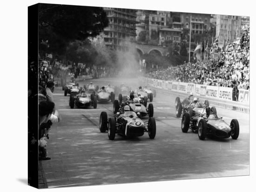
[(93, 106), (93, 108), (96, 109), (97, 99), (93, 94), (89, 95), (85, 92), (79, 93), (78, 89), (72, 89), (69, 97), (69, 106), (71, 109), (74, 109), (74, 106), (78, 108)]

